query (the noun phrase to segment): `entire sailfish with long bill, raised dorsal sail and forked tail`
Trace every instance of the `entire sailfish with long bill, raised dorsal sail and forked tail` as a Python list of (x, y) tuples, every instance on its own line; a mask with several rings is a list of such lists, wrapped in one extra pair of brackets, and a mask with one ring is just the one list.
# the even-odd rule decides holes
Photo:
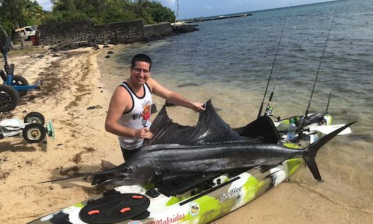
[(322, 181), (315, 156), (325, 143), (350, 125), (352, 123), (298, 150), (240, 136), (220, 119), (211, 101), (206, 103), (206, 111), (201, 112), (198, 124), (193, 127), (173, 123), (162, 108), (151, 125), (153, 139), (146, 141), (125, 163), (111, 170), (78, 176), (113, 174), (99, 185), (160, 183), (167, 176), (229, 172), (258, 165), (277, 165), (302, 157), (314, 178)]

